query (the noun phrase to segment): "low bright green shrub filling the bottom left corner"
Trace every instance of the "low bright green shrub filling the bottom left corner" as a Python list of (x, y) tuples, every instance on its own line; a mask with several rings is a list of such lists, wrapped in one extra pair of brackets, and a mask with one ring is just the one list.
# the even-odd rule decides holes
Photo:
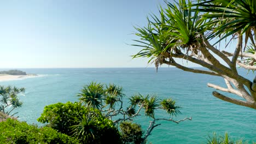
[(19, 122), (7, 119), (0, 123), (0, 143), (79, 143), (77, 139), (56, 130), (36, 125), (29, 125), (26, 122)]

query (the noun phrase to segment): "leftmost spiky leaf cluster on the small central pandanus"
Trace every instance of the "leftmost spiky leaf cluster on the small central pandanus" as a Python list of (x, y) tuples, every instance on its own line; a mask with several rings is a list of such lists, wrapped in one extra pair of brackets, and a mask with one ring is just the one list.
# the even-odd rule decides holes
[(104, 95), (103, 85), (101, 83), (91, 82), (84, 86), (77, 96), (80, 97), (80, 103), (96, 109), (100, 109), (102, 97)]

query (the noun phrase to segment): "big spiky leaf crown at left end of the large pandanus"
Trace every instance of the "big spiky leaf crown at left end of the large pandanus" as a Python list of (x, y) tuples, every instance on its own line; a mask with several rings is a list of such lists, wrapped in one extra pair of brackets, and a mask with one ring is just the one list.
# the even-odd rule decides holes
[(151, 16), (152, 21), (148, 18), (148, 26), (136, 28), (136, 35), (141, 40), (135, 40), (138, 45), (143, 47), (133, 58), (147, 57), (149, 62), (153, 60), (156, 68), (161, 65), (167, 57), (166, 52), (172, 53), (173, 49), (183, 48), (191, 49), (200, 45), (201, 34), (207, 30), (203, 27), (204, 19), (201, 19), (198, 11), (188, 7), (191, 1), (186, 3), (180, 0), (178, 6), (167, 3), (166, 9), (160, 9), (160, 18), (155, 15)]

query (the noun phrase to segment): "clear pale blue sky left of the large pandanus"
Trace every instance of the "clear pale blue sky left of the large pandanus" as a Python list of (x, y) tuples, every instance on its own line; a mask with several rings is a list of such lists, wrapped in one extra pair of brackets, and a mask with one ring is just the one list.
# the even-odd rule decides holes
[(0, 2), (0, 68), (147, 67), (133, 26), (162, 0)]

